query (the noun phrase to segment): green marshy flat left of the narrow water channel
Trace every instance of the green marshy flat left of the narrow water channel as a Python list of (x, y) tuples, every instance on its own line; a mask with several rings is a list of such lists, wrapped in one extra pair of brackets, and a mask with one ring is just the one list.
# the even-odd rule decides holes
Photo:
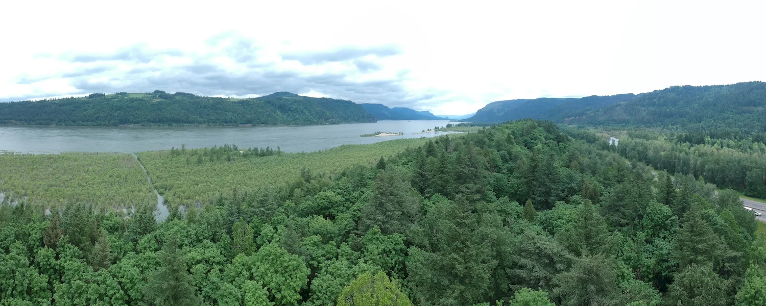
[(26, 198), (43, 207), (156, 203), (146, 175), (129, 154), (0, 155), (0, 192), (5, 200)]

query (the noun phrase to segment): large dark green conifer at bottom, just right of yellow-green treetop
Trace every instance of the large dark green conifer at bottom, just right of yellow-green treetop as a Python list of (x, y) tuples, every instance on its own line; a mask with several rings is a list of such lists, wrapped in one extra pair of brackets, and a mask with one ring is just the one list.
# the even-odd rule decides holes
[(489, 292), (496, 268), (493, 235), (482, 216), (462, 197), (437, 203), (421, 223), (423, 249), (408, 256), (409, 282), (418, 304), (475, 304)]

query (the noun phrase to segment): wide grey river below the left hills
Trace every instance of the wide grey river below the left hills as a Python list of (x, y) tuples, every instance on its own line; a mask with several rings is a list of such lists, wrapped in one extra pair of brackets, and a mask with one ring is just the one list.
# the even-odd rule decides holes
[[(270, 146), (300, 152), (369, 144), (399, 138), (421, 138), (447, 132), (427, 132), (447, 120), (378, 121), (342, 125), (251, 127), (80, 127), (0, 125), (0, 151), (57, 153), (62, 151), (124, 152), (235, 144), (240, 148)], [(399, 136), (359, 137), (374, 132), (404, 132)], [(418, 134), (414, 134), (418, 133)]]

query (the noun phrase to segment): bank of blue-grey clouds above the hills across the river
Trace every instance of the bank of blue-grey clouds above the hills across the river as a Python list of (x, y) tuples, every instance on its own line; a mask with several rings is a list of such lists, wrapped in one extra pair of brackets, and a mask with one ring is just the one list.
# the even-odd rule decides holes
[[(381, 60), (401, 55), (396, 45), (336, 47), (332, 50), (279, 53), (236, 32), (214, 35), (197, 52), (153, 49), (133, 44), (111, 52), (41, 54), (61, 70), (24, 74), (20, 85), (64, 80), (69, 94), (182, 91), (208, 96), (263, 96), (278, 91), (417, 108), (434, 97), (413, 96), (403, 86), (406, 70), (384, 71)], [(28, 96), (4, 100), (35, 99)]]

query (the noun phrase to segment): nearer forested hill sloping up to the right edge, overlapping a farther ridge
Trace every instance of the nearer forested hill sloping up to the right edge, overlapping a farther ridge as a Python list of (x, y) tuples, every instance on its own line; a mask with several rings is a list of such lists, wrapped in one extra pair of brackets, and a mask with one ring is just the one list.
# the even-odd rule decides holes
[(766, 131), (766, 83), (672, 86), (626, 103), (572, 116), (583, 125), (679, 126), (690, 129)]

